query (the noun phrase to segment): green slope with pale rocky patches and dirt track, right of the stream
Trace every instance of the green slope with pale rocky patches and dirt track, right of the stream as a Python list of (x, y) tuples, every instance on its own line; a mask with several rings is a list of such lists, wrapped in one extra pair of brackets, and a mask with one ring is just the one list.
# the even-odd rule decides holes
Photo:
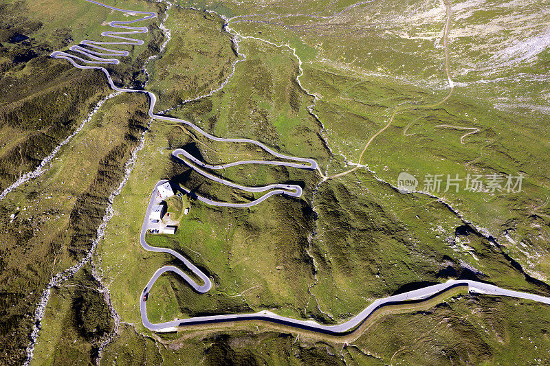
[[(207, 5), (214, 6), (201, 6)], [(399, 172), (410, 172), (420, 189), (426, 174), (524, 174), (520, 194), (437, 196), (486, 228), (530, 275), (547, 280), (548, 55), (540, 14), (531, 16), (537, 1), (522, 1), (513, 16), (503, 4), (480, 9), (451, 4), (448, 54), (455, 87), (442, 104), (449, 93), (442, 4), (391, 1), (346, 10), (351, 2), (327, 1), (327, 8), (316, 4), (322, 11), (314, 13), (305, 9), (307, 3), (293, 3), (277, 8), (283, 17), (267, 12), (281, 4), (263, 5), (254, 11), (234, 5), (255, 15), (230, 26), (244, 36), (296, 48), (304, 61), (302, 82), (320, 97), (315, 111), (329, 146), (345, 161), (369, 165), (393, 185)], [(503, 31), (512, 19), (514, 28)], [(475, 32), (480, 36), (473, 37)], [(392, 124), (359, 161), (366, 141), (401, 103)], [(426, 107), (431, 104), (437, 106)], [(461, 140), (472, 129), (441, 125), (479, 131)], [(329, 172), (344, 170), (332, 163)]]

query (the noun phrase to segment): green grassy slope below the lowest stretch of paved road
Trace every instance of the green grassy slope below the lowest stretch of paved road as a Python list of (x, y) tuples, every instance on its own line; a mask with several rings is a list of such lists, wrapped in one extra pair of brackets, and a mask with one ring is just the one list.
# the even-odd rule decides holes
[[(155, 337), (130, 327), (106, 350), (102, 364), (186, 365), (514, 365), (544, 364), (549, 313), (515, 299), (454, 295), (423, 310), (387, 314), (362, 335), (316, 339), (269, 326), (199, 330)], [(162, 357), (162, 361), (160, 361)]]

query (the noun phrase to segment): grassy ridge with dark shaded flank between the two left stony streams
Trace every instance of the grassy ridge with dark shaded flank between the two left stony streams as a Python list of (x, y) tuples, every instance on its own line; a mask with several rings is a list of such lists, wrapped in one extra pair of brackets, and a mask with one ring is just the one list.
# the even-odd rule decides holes
[[(124, 164), (146, 126), (146, 115), (140, 112), (145, 102), (140, 95), (106, 102), (51, 170), (2, 201), (3, 363), (19, 363), (24, 357), (45, 284), (81, 260), (96, 238), (107, 198), (122, 180)], [(17, 214), (13, 222), (11, 214)]]

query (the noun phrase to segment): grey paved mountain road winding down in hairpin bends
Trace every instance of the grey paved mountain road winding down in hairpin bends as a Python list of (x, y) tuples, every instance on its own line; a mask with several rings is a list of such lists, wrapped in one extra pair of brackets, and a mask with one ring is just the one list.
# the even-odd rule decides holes
[[(195, 170), (195, 172), (206, 176), (208, 179), (212, 179), (213, 181), (217, 181), (218, 183), (228, 185), (230, 187), (234, 187), (239, 190), (244, 190), (246, 192), (267, 192), (260, 198), (256, 199), (255, 201), (252, 201), (250, 203), (225, 203), (225, 202), (217, 202), (212, 201), (208, 198), (202, 197), (202, 196), (196, 196), (199, 201), (202, 201), (203, 203), (206, 203), (208, 205), (217, 205), (217, 206), (228, 206), (228, 207), (250, 207), (253, 205), (257, 205), (258, 203), (261, 203), (265, 199), (269, 198), (270, 196), (273, 196), (274, 194), (286, 194), (288, 196), (293, 197), (300, 197), (303, 193), (303, 190), (298, 185), (289, 185), (289, 184), (271, 184), (271, 185), (265, 185), (263, 187), (246, 187), (243, 185), (237, 185), (235, 183), (232, 183), (230, 181), (226, 181), (225, 179), (221, 179), (217, 176), (214, 176), (212, 174), (209, 174), (208, 172), (202, 170), (201, 168), (207, 168), (212, 170), (219, 170), (223, 168), (229, 168), (235, 165), (243, 165), (243, 164), (270, 164), (270, 165), (285, 165), (287, 167), (291, 168), (298, 168), (298, 169), (306, 169), (306, 170), (318, 170), (320, 173), (320, 176), (323, 176), (322, 172), (320, 172), (320, 168), (318, 163), (314, 159), (305, 159), (305, 158), (298, 158), (298, 157), (290, 157), (288, 155), (280, 154), (271, 148), (265, 146), (259, 141), (254, 141), (252, 139), (225, 139), (221, 137), (216, 137), (213, 135), (210, 135), (206, 131), (202, 130), (198, 126), (195, 126), (195, 124), (192, 124), (191, 122), (185, 121), (184, 119), (179, 118), (173, 118), (173, 117), (165, 117), (163, 115), (156, 115), (153, 113), (153, 110), (155, 108), (155, 104), (157, 102), (156, 96), (149, 92), (144, 90), (136, 90), (136, 89), (121, 89), (119, 87), (116, 87), (113, 83), (113, 80), (111, 79), (111, 76), (109, 75), (109, 71), (107, 69), (104, 69), (104, 67), (101, 67), (99, 65), (116, 65), (120, 61), (116, 58), (104, 58), (104, 56), (128, 56), (129, 53), (126, 51), (120, 51), (120, 50), (113, 50), (109, 49), (107, 47), (102, 47), (106, 45), (142, 45), (144, 42), (141, 40), (133, 39), (126, 37), (125, 35), (129, 34), (142, 34), (146, 33), (147, 27), (133, 27), (130, 26), (130, 24), (138, 22), (138, 21), (145, 21), (147, 19), (152, 19), (155, 16), (157, 16), (154, 12), (135, 12), (131, 10), (124, 10), (119, 8), (113, 8), (112, 6), (105, 5), (103, 3), (99, 3), (98, 1), (94, 0), (85, 0), (89, 1), (91, 3), (96, 3), (98, 5), (104, 6), (105, 8), (109, 8), (111, 10), (115, 10), (118, 12), (123, 12), (125, 14), (128, 14), (130, 16), (136, 16), (136, 15), (144, 15), (140, 19), (135, 19), (131, 21), (111, 21), (109, 25), (114, 28), (120, 28), (124, 31), (122, 32), (102, 32), (102, 36), (111, 37), (111, 38), (117, 38), (121, 41), (119, 42), (96, 42), (96, 41), (82, 41), (80, 45), (72, 46), (69, 48), (70, 51), (81, 54), (88, 59), (81, 58), (80, 56), (76, 56), (75, 54), (69, 54), (67, 52), (54, 52), (52, 54), (53, 58), (64, 58), (65, 60), (69, 60), (69, 62), (72, 63), (75, 67), (78, 67), (79, 69), (100, 69), (102, 70), (105, 75), (107, 76), (107, 80), (109, 84), (111, 85), (111, 88), (115, 91), (119, 92), (127, 92), (127, 93), (145, 93), (148, 95), (149, 98), (149, 110), (148, 115), (153, 119), (162, 119), (164, 121), (170, 121), (170, 122), (177, 122), (180, 124), (186, 124), (190, 128), (196, 130), (198, 133), (201, 133), (202, 135), (208, 137), (209, 139), (212, 139), (214, 141), (225, 141), (225, 142), (234, 142), (234, 143), (248, 143), (248, 144), (254, 144), (256, 146), (259, 146), (266, 152), (269, 152), (274, 157), (277, 157), (279, 159), (284, 159), (287, 161), (259, 161), (259, 160), (244, 160), (244, 161), (236, 161), (234, 163), (228, 163), (223, 165), (210, 165), (208, 163), (203, 163), (202, 161), (199, 161), (190, 153), (188, 153), (186, 150), (183, 149), (177, 149), (173, 152), (173, 157), (175, 157), (177, 160), (182, 161), (186, 165), (189, 165), (190, 168)], [(81, 45), (87, 46), (82, 47)], [(96, 51), (91, 50), (96, 49)], [(97, 51), (98, 50), (98, 51)], [(78, 62), (83, 62), (87, 65), (80, 65)], [(185, 159), (182, 159), (181, 156), (183, 156)], [(167, 271), (172, 271), (179, 275), (181, 278), (183, 278), (192, 288), (194, 288), (198, 293), (206, 293), (210, 288), (212, 287), (212, 282), (208, 278), (208, 276), (203, 273), (197, 266), (192, 264), (189, 260), (187, 260), (183, 255), (177, 253), (177, 251), (173, 251), (172, 249), (166, 249), (166, 248), (158, 248), (158, 247), (151, 247), (147, 244), (145, 241), (145, 234), (147, 231), (148, 226), (148, 220), (149, 220), (149, 214), (151, 211), (151, 207), (155, 204), (155, 196), (157, 195), (157, 187), (159, 185), (162, 185), (163, 183), (166, 183), (166, 181), (159, 181), (157, 185), (155, 185), (155, 188), (153, 190), (153, 193), (151, 194), (151, 199), (149, 201), (147, 211), (145, 214), (143, 226), (142, 226), (142, 232), (140, 235), (140, 243), (142, 244), (142, 247), (146, 249), (147, 251), (155, 251), (155, 252), (162, 252), (162, 253), (168, 253), (170, 255), (175, 256), (177, 259), (179, 259), (182, 263), (184, 263), (192, 273), (197, 275), (203, 282), (203, 284), (197, 284), (194, 279), (186, 275), (183, 271), (181, 271), (179, 268), (175, 266), (164, 266), (162, 268), (159, 268), (153, 277), (149, 280), (146, 287), (144, 288), (143, 293), (140, 295), (140, 310), (141, 310), (141, 317), (142, 322), (144, 326), (150, 330), (155, 331), (167, 331), (167, 330), (176, 330), (175, 327), (178, 327), (180, 325), (191, 325), (191, 324), (201, 324), (201, 323), (221, 323), (221, 322), (227, 322), (227, 321), (243, 321), (243, 320), (261, 320), (261, 321), (271, 321), (273, 323), (279, 323), (284, 325), (290, 325), (296, 328), (301, 328), (305, 330), (312, 330), (315, 332), (323, 332), (323, 333), (329, 333), (329, 334), (342, 334), (349, 332), (355, 328), (358, 327), (365, 319), (367, 319), (375, 310), (382, 308), (383, 306), (388, 305), (394, 305), (402, 301), (411, 301), (411, 300), (421, 300), (421, 299), (428, 299), (434, 295), (437, 295), (439, 293), (445, 292), (446, 290), (450, 290), (451, 288), (455, 288), (457, 286), (467, 286), (469, 291), (471, 293), (484, 293), (488, 295), (500, 295), (500, 296), (509, 296), (509, 297), (516, 297), (519, 299), (529, 299), (532, 301), (539, 301), (544, 304), (550, 305), (550, 297), (543, 297), (540, 295), (533, 295), (529, 293), (521, 293), (518, 291), (513, 290), (506, 290), (504, 288), (499, 288), (497, 286), (491, 285), (491, 284), (484, 284), (481, 282), (476, 281), (470, 281), (470, 280), (450, 280), (448, 282), (445, 282), (443, 284), (436, 284), (433, 286), (428, 286), (425, 288), (421, 288), (419, 290), (413, 290), (409, 291), (407, 293), (401, 293), (399, 295), (393, 295), (390, 297), (385, 297), (383, 299), (377, 299), (373, 301), (372, 304), (367, 306), (362, 312), (357, 314), (355, 317), (349, 319), (349, 321), (346, 321), (344, 323), (338, 324), (338, 325), (323, 325), (320, 323), (316, 323), (315, 321), (310, 320), (297, 320), (297, 319), (291, 319), (288, 317), (281, 317), (280, 315), (274, 314), (272, 312), (268, 311), (261, 311), (256, 312), (252, 314), (225, 314), (225, 315), (212, 315), (208, 317), (194, 317), (189, 319), (177, 319), (174, 321), (167, 321), (165, 323), (157, 323), (153, 324), (150, 321), (148, 321), (147, 318), (147, 310), (146, 310), (146, 297), (148, 295), (148, 292), (151, 290), (153, 285), (155, 284), (155, 281), (157, 278), (162, 275), (163, 273)], [(190, 193), (190, 192), (188, 192)]]

